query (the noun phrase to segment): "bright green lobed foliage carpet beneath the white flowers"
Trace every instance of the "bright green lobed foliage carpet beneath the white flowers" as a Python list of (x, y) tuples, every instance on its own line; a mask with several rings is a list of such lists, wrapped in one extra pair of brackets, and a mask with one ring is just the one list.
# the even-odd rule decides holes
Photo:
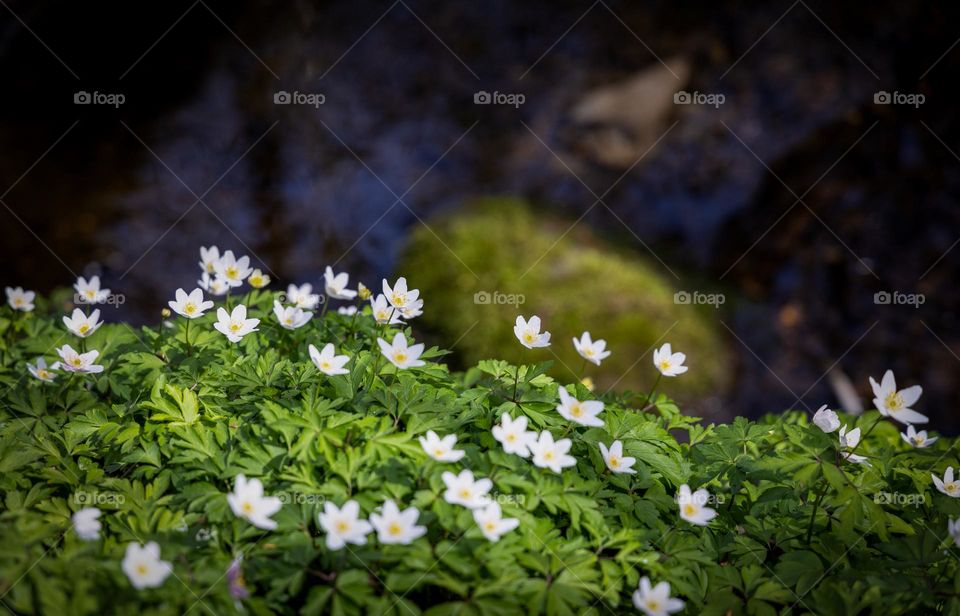
[[(51, 362), (55, 347), (77, 340), (58, 317), (0, 312), (8, 610), (624, 613), (646, 575), (668, 581), (686, 614), (960, 614), (960, 552), (947, 535), (960, 501), (930, 480), (958, 465), (951, 439), (914, 450), (896, 426), (874, 428), (875, 412), (848, 418), (866, 434), (857, 453), (871, 466), (857, 465), (803, 414), (703, 426), (662, 395), (655, 404), (604, 396), (605, 426), (573, 427), (554, 410), (561, 384), (548, 364), (487, 360), (451, 374), (434, 348), (426, 366), (398, 371), (371, 353), (383, 332), (368, 314), (289, 332), (275, 325), (272, 299), (243, 298), (262, 323), (239, 344), (213, 330), (212, 314), (191, 323), (190, 347), (182, 319), (105, 325), (87, 340), (105, 371), (50, 384), (25, 364)], [(314, 368), (306, 346), (325, 342), (351, 356), (350, 374)], [(505, 412), (571, 438), (577, 465), (557, 475), (504, 453), (490, 428)], [(427, 430), (457, 434), (466, 457), (428, 458), (417, 442)], [(637, 474), (606, 470), (597, 444), (613, 439), (637, 458)], [(469, 511), (443, 499), (441, 474), (460, 468), (493, 480), (518, 529), (491, 543)], [(276, 530), (232, 513), (225, 495), (240, 473), (283, 498)], [(709, 526), (678, 517), (684, 483), (716, 497)], [(387, 498), (415, 506), (428, 533), (332, 552), (317, 514), (325, 500), (351, 498), (364, 517)], [(91, 505), (103, 529), (85, 542), (71, 515)], [(138, 591), (121, 571), (132, 541), (158, 542), (173, 564), (159, 588)], [(226, 576), (237, 555), (250, 590), (240, 602)]]

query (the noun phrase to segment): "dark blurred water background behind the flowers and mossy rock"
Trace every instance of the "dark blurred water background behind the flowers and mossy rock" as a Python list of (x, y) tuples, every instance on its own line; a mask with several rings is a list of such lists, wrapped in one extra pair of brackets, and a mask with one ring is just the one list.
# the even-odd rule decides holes
[[(99, 273), (127, 298), (108, 319), (155, 322), (201, 244), (280, 284), (333, 262), (371, 282), (420, 220), (517, 194), (587, 212), (678, 288), (736, 298), (719, 317), (739, 358), (729, 414), (837, 404), (840, 375), (869, 406), (867, 376), (889, 367), (960, 431), (955, 3), (0, 4), (4, 285)], [(725, 104), (637, 101), (619, 113), (655, 117), (626, 129), (576, 117), (664, 63), (682, 78), (660, 90)], [(75, 105), (80, 90), (126, 102)], [(326, 102), (274, 105), (278, 90)], [(474, 105), (478, 90), (526, 102)]]

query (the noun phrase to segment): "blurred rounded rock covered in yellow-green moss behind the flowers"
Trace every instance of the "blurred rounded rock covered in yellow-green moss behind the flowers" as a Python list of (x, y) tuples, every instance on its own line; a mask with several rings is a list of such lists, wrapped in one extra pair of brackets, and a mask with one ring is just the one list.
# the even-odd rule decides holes
[[(399, 272), (421, 290), (426, 310), (415, 325), (442, 337), (464, 365), (503, 358), (554, 360), (563, 379), (589, 376), (598, 391), (646, 391), (656, 371), (652, 349), (670, 342), (687, 354), (689, 372), (665, 383), (692, 402), (730, 380), (731, 356), (712, 307), (674, 303), (673, 280), (586, 224), (534, 213), (523, 202), (490, 198), (416, 229)], [(478, 293), (523, 295), (519, 306), (477, 301)], [(528, 350), (513, 334), (518, 314), (538, 314), (551, 346)], [(572, 338), (588, 330), (613, 354), (600, 367), (577, 355)]]

